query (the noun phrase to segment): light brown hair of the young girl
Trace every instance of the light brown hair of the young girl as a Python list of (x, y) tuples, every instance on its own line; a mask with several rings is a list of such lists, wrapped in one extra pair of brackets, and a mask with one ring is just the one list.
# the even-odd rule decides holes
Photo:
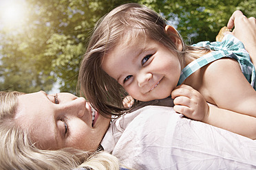
[[(100, 67), (105, 53), (114, 49), (120, 40), (129, 41), (138, 36), (156, 40), (175, 51), (184, 67), (186, 53), (194, 49), (184, 45), (178, 32), (167, 35), (164, 31), (166, 23), (167, 21), (158, 13), (138, 3), (120, 5), (96, 23), (81, 62), (78, 83), (81, 93), (92, 103), (94, 108), (98, 109), (98, 112), (103, 115), (118, 115), (127, 110), (122, 105), (122, 100), (128, 95), (127, 92)], [(178, 51), (170, 37), (181, 40), (182, 51)], [(134, 104), (138, 104), (138, 101)]]

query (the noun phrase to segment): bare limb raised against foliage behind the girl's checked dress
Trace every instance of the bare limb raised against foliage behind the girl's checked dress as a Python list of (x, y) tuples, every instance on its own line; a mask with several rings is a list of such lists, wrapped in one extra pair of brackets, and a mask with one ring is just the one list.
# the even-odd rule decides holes
[[(236, 10), (228, 21), (228, 29), (233, 29), (233, 34), (244, 43), (244, 47), (250, 53), (253, 64), (256, 64), (256, 19), (249, 19), (244, 14)], [(254, 57), (253, 57), (254, 56)]]

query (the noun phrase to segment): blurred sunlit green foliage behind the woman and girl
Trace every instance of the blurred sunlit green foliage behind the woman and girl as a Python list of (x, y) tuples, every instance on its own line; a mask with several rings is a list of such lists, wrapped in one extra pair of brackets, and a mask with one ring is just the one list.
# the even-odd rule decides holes
[(49, 92), (54, 83), (63, 92), (76, 93), (79, 63), (94, 24), (123, 3), (147, 5), (189, 43), (214, 41), (235, 10), (256, 16), (255, 0), (4, 1), (0, 1), (0, 88), (25, 93)]

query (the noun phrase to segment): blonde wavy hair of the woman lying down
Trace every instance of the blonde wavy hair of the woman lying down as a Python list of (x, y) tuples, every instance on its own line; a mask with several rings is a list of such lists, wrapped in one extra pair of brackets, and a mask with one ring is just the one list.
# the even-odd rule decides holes
[(0, 169), (119, 169), (118, 159), (105, 151), (73, 148), (42, 150), (25, 128), (15, 124), (19, 92), (0, 92)]

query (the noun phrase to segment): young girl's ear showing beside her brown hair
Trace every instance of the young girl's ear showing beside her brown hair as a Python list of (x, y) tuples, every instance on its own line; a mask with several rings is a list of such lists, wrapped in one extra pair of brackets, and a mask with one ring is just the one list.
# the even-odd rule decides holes
[(179, 36), (177, 30), (174, 27), (172, 27), (171, 25), (165, 26), (164, 30), (165, 30), (166, 34), (169, 36), (170, 40), (172, 40), (175, 43), (177, 49), (179, 51), (182, 51), (183, 43), (182, 43), (182, 40), (179, 38), (180, 36)]

